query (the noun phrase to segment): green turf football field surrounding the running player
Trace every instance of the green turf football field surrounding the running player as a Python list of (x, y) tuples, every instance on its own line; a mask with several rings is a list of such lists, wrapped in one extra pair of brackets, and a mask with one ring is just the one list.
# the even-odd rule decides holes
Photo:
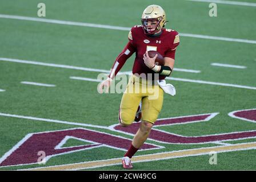
[[(135, 154), (138, 162), (134, 161), (134, 169), (255, 170), (256, 1), (237, 1), (250, 4), (217, 3), (217, 17), (209, 16), (209, 2), (183, 0), (0, 1), (0, 169), (67, 164), (74, 164), (69, 169), (122, 169), (121, 160), (120, 163), (109, 162), (122, 158), (125, 150), (107, 146), (56, 155), (46, 164), (25, 163), (29, 156), (17, 150), (22, 148), (21, 144), (26, 144), (24, 142), (29, 134), (68, 131), (78, 127), (115, 137), (133, 138), (131, 134), (109, 127), (118, 124), (122, 94), (99, 94), (99, 82), (70, 77), (97, 79), (99, 73), (109, 70), (127, 43), (129, 28), (141, 23), (141, 14), (146, 6), (157, 3), (166, 11), (169, 20), (166, 28), (174, 29), (181, 35), (174, 67), (199, 71), (173, 72), (173, 80), (167, 82), (175, 86), (177, 94), (174, 97), (165, 94), (159, 119), (218, 114), (209, 121), (158, 126), (155, 129), (186, 137), (236, 135), (233, 139), (220, 138), (205, 143), (197, 142), (196, 138), (196, 142), (190, 144), (149, 139), (147, 144), (161, 147), (138, 151)], [(46, 5), (46, 17), (39, 18), (37, 5), (42, 2)], [(73, 24), (40, 22), (39, 19), (70, 21)], [(78, 22), (119, 26), (127, 30), (89, 27), (85, 24), (78, 26)], [(198, 35), (204, 38), (198, 38)], [(130, 57), (121, 71), (131, 71), (133, 60), (134, 56)], [(243, 68), (219, 67), (211, 63)], [(23, 81), (55, 86), (28, 85), (22, 84)], [(228, 115), (238, 110), (249, 111), (243, 113), (241, 119)], [(246, 131), (250, 131), (250, 134), (242, 135)], [(62, 148), (85, 146), (94, 139), (87, 140), (71, 138), (63, 142)], [(40, 142), (36, 140), (33, 146)], [(209, 151), (199, 151), (199, 148), (203, 150), (209, 147), (230, 148), (217, 152), (217, 164), (209, 164)], [(197, 154), (183, 154), (183, 151), (195, 149), (198, 150)], [(31, 147), (27, 148), (27, 154), (30, 150)], [(160, 152), (171, 155), (175, 151), (181, 156), (150, 157)], [(16, 158), (11, 158), (14, 154)], [(146, 159), (142, 160), (145, 155)], [(101, 160), (99, 164), (97, 161)], [(88, 167), (89, 162), (92, 164)], [(85, 166), (76, 166), (76, 163)]]

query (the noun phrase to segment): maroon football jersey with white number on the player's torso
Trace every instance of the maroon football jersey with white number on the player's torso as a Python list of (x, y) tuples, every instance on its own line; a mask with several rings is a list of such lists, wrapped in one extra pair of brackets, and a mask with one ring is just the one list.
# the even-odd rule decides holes
[[(163, 57), (175, 59), (175, 49), (179, 45), (179, 34), (175, 30), (163, 28), (159, 36), (146, 35), (142, 26), (134, 26), (129, 32), (128, 38), (136, 50), (136, 57), (133, 65), (133, 73), (154, 73), (146, 66), (143, 60), (143, 54), (146, 51), (157, 51)], [(165, 76), (159, 76), (164, 79)]]

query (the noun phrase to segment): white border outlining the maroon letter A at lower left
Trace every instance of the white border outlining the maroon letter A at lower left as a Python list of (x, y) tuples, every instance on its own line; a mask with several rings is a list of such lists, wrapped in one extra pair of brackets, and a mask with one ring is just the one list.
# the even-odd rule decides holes
[[(102, 132), (102, 131), (95, 131), (95, 130), (90, 130), (90, 129), (85, 129), (85, 128), (82, 128), (82, 127), (77, 127), (77, 128), (71, 128), (71, 129), (63, 129), (63, 130), (51, 130), (51, 131), (42, 131), (42, 132), (38, 132), (38, 133), (30, 133), (30, 134), (27, 134), (21, 141), (19, 141), (13, 148), (11, 148), (11, 150), (9, 150), (8, 152), (6, 152), (6, 154), (4, 154), (1, 158), (0, 158), (0, 164), (5, 160), (7, 159), (8, 156), (10, 156), (11, 154), (13, 154), (13, 152), (15, 150), (17, 150), (17, 148), (19, 148), (23, 143), (26, 142), (27, 139), (29, 139), (32, 135), (34, 134), (43, 134), (43, 133), (51, 133), (51, 132), (54, 132), (54, 131), (67, 131), (67, 130), (75, 130), (75, 129), (82, 129), (82, 130), (89, 130), (89, 131), (94, 131), (94, 132), (97, 132), (97, 133), (102, 133), (102, 134), (107, 134), (107, 135), (111, 135), (111, 136), (114, 136), (114, 137), (118, 137), (118, 138), (122, 138), (122, 139), (127, 139), (127, 140), (131, 140), (129, 138), (125, 138), (125, 137), (121, 137), (119, 135), (113, 135), (113, 134), (109, 134), (109, 133), (105, 133), (105, 132)], [(132, 141), (132, 140), (131, 140)], [(159, 147), (159, 148), (148, 148), (148, 149), (143, 149), (143, 151), (147, 151), (147, 150), (158, 150), (158, 149), (162, 149), (162, 148), (165, 148), (164, 146), (159, 146), (157, 144), (153, 144), (153, 143), (147, 143), (145, 142), (146, 144), (151, 144), (155, 147)], [(57, 145), (58, 146), (58, 145)], [(73, 152), (78, 152), (78, 151), (83, 151), (83, 150), (89, 150), (91, 148), (98, 148), (98, 147), (108, 147), (108, 148), (113, 148), (115, 150), (121, 150), (121, 151), (127, 151), (123, 148), (118, 148), (118, 147), (113, 147), (113, 146), (108, 146), (106, 144), (101, 144), (100, 146), (94, 146), (94, 147), (90, 147), (90, 148), (82, 148), (82, 149), (79, 149), (79, 150), (73, 150), (73, 151), (69, 151), (69, 152), (63, 152), (61, 154), (53, 154), (53, 155), (48, 155), (46, 156), (45, 158), (45, 161), (47, 162), (49, 159), (53, 158), (54, 156), (58, 156), (58, 155), (65, 155), (65, 154), (70, 154), (70, 153), (73, 153)], [(27, 165), (31, 165), (31, 164), (38, 164), (38, 163), (29, 163), (29, 164), (18, 164), (18, 165), (10, 165), (10, 166), (0, 166), (0, 168), (5, 168), (5, 167), (14, 167), (14, 166), (27, 166)]]

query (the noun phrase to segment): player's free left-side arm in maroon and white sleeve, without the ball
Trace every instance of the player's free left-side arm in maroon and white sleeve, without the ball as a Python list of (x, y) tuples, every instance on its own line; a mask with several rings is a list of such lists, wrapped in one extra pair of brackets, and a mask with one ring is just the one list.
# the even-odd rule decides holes
[(120, 71), (120, 69), (125, 64), (126, 60), (133, 55), (133, 53), (136, 51), (135, 46), (133, 45), (133, 36), (131, 35), (131, 31), (128, 35), (129, 42), (126, 44), (125, 48), (119, 55), (117, 56), (117, 59), (115, 59), (115, 62), (110, 70), (109, 76), (106, 80), (102, 81), (99, 85), (99, 91), (100, 93), (103, 93), (103, 89), (106, 87), (107, 90), (109, 89), (111, 85), (111, 81), (114, 79), (115, 75)]

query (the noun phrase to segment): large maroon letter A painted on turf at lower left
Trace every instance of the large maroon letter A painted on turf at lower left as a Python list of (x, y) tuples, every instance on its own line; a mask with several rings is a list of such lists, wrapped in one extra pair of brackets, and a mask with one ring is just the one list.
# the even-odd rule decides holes
[[(75, 138), (86, 139), (98, 144), (91, 144), (86, 146), (77, 146), (70, 148), (55, 149), (66, 137), (71, 136)], [(23, 143), (0, 164), (0, 166), (11, 166), (17, 164), (31, 164), (38, 162), (38, 152), (44, 151), (47, 156), (61, 155), (66, 152), (75, 152), (78, 150), (85, 150), (97, 146), (114, 147), (121, 150), (127, 150), (131, 144), (130, 139), (121, 138), (107, 133), (99, 133), (98, 131), (87, 129), (70, 129), (63, 131), (51, 131), (47, 133), (33, 134), (31, 137), (25, 139)], [(154, 144), (143, 144), (141, 150), (159, 148)]]

